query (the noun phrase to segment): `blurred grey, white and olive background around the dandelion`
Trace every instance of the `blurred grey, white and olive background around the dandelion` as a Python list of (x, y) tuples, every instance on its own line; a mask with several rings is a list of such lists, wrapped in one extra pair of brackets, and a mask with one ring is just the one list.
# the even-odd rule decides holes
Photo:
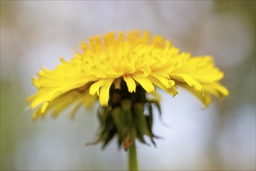
[(82, 40), (110, 30), (149, 30), (194, 55), (210, 54), (230, 96), (202, 103), (162, 96), (154, 146), (138, 144), (141, 170), (255, 169), (255, 1), (1, 1), (1, 169), (125, 170), (127, 154), (93, 141), (95, 111), (33, 123), (25, 99), (41, 66), (72, 58)]

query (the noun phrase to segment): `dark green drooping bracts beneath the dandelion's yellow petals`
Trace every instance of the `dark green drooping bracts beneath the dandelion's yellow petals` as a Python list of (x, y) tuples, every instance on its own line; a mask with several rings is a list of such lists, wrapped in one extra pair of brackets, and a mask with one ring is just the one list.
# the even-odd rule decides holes
[(117, 145), (125, 150), (135, 143), (135, 139), (143, 144), (146, 142), (146, 136), (150, 138), (153, 145), (153, 106), (160, 110), (160, 103), (157, 100), (146, 99), (146, 91), (141, 86), (137, 86), (135, 93), (128, 92), (124, 82), (121, 83), (121, 89), (110, 88), (110, 101), (106, 107), (100, 106), (97, 116), (100, 120), (96, 141), (87, 145), (102, 143), (102, 148), (117, 136)]

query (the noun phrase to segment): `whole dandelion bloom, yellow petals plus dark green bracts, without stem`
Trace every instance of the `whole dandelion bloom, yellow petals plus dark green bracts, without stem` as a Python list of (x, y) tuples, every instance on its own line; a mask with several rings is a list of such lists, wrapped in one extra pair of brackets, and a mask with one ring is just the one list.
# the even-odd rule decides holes
[[(119, 143), (128, 148), (131, 138), (144, 141), (144, 135), (155, 137), (151, 131), (151, 104), (159, 106), (159, 99), (149, 100), (146, 96), (156, 95), (156, 88), (176, 96), (177, 87), (183, 87), (205, 107), (212, 103), (212, 96), (222, 99), (229, 94), (219, 83), (223, 72), (216, 68), (211, 56), (192, 57), (174, 47), (170, 40), (159, 35), (152, 37), (148, 31), (110, 32), (103, 37), (90, 37), (81, 47), (82, 51), (76, 51), (70, 61), (60, 58), (61, 64), (56, 68), (42, 68), (38, 77), (33, 78), (37, 92), (27, 99), (32, 110), (37, 107), (33, 120), (49, 112), (58, 116), (72, 104), (75, 113), (80, 106), (89, 108), (99, 101), (104, 128), (98, 141), (107, 144), (114, 134), (119, 134)], [(106, 126), (107, 115), (111, 115), (114, 128)], [(139, 124), (132, 126), (136, 123)], [(128, 124), (126, 128), (125, 124)], [(103, 138), (103, 132), (108, 129), (114, 130)]]

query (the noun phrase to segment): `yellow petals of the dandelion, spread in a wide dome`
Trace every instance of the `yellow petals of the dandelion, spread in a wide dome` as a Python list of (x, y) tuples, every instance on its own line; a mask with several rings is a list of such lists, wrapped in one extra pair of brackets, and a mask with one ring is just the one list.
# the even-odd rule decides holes
[(223, 72), (214, 66), (212, 57), (181, 53), (169, 40), (151, 37), (148, 31), (110, 32), (90, 37), (81, 47), (82, 52), (75, 52), (70, 61), (60, 58), (54, 70), (42, 68), (38, 78), (33, 78), (38, 91), (27, 101), (32, 110), (38, 106), (34, 120), (50, 110), (57, 116), (73, 103), (75, 113), (79, 106), (92, 106), (97, 98), (101, 106), (108, 106), (110, 87), (121, 89), (123, 80), (130, 93), (138, 86), (149, 93), (159, 87), (175, 96), (181, 86), (205, 106), (212, 102), (212, 95), (221, 99), (229, 94), (219, 84)]

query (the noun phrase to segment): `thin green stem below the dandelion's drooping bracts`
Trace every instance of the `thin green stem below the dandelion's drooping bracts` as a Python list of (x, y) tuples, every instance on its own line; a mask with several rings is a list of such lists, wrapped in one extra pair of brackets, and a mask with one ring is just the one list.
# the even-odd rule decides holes
[(129, 162), (129, 171), (138, 171), (138, 162), (137, 162), (137, 152), (135, 141), (132, 143), (131, 147), (128, 148), (128, 162)]

